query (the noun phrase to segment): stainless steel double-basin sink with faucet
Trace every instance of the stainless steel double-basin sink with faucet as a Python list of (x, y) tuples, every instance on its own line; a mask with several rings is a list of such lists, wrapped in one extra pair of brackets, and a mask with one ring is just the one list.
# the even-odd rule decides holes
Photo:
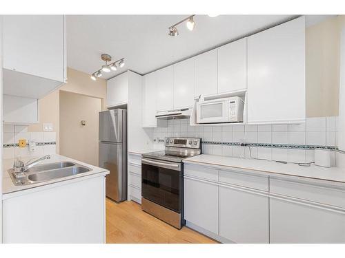
[(9, 169), (8, 173), (14, 185), (25, 185), (46, 182), (58, 178), (68, 178), (71, 175), (86, 173), (92, 169), (75, 162), (62, 161), (55, 163), (37, 164), (22, 173), (15, 173)]

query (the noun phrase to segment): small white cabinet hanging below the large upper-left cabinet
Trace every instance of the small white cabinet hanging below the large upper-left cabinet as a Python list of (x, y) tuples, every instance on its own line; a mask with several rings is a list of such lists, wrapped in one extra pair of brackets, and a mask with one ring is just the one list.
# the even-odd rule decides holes
[(11, 125), (30, 125), (39, 122), (39, 101), (3, 95), (3, 122)]

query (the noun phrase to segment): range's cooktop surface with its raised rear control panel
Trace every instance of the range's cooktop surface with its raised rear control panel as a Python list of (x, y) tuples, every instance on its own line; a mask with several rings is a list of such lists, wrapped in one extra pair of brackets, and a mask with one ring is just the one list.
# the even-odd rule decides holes
[(166, 138), (166, 148), (164, 151), (154, 151), (144, 153), (143, 158), (155, 160), (167, 160), (172, 162), (182, 162), (184, 158), (190, 158), (201, 154), (200, 138)]

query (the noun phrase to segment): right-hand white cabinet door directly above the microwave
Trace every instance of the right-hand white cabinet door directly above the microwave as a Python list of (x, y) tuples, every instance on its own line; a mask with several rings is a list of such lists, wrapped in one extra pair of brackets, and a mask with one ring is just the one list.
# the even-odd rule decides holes
[(247, 87), (247, 39), (218, 48), (218, 93)]

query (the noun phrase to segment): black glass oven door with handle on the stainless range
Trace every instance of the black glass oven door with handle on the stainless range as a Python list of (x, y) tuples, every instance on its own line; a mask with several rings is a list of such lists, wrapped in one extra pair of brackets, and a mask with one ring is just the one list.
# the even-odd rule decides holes
[(141, 159), (141, 195), (172, 211), (181, 213), (181, 163)]

